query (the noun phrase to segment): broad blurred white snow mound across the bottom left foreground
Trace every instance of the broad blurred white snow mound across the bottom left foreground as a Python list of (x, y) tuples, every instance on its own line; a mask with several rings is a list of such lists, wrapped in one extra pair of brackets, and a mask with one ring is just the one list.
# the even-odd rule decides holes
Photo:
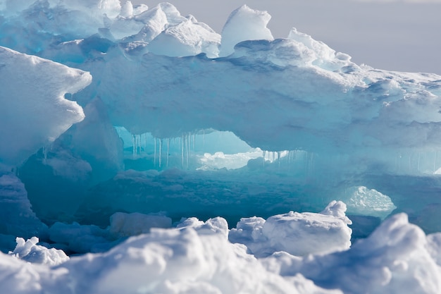
[[(285, 279), (267, 271), (243, 246), (222, 233), (194, 228), (155, 229), (112, 250), (72, 257), (58, 267), (23, 264), (0, 253), (0, 279), (7, 293), (316, 293), (301, 275)], [(15, 274), (19, 271), (20, 274)], [(5, 276), (3, 273), (13, 273)], [(23, 282), (26, 281), (26, 286)]]

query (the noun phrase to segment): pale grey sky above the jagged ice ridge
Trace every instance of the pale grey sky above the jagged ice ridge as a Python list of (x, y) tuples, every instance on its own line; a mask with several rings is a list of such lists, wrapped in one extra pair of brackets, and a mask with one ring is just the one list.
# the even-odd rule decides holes
[[(124, 1), (124, 0), (122, 0)], [(163, 1), (132, 0), (154, 7)], [(168, 0), (221, 33), (235, 8), (268, 11), (273, 36), (292, 27), (352, 56), (390, 71), (441, 74), (441, 0)]]

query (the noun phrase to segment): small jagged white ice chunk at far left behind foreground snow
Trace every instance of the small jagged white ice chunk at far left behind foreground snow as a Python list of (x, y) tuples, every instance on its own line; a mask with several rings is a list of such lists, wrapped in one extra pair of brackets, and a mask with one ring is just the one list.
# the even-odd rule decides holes
[(26, 241), (23, 238), (17, 238), (16, 242), (17, 246), (9, 254), (27, 262), (54, 266), (69, 260), (63, 250), (37, 245), (39, 242), (37, 237), (32, 237)]

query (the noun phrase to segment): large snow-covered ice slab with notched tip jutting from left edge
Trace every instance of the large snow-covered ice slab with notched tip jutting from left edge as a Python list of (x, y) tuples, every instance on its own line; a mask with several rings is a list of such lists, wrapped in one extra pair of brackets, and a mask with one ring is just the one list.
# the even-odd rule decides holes
[(85, 115), (65, 99), (89, 85), (89, 73), (0, 47), (0, 161), (17, 166)]

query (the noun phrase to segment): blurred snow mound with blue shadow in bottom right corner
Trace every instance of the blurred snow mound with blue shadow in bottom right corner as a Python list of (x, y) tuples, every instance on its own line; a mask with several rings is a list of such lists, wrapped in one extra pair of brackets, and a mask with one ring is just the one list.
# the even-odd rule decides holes
[[(428, 243), (429, 241), (429, 243)], [(300, 259), (275, 253), (264, 261), (282, 276), (302, 274), (344, 293), (440, 293), (439, 238), (395, 214), (349, 250)]]

